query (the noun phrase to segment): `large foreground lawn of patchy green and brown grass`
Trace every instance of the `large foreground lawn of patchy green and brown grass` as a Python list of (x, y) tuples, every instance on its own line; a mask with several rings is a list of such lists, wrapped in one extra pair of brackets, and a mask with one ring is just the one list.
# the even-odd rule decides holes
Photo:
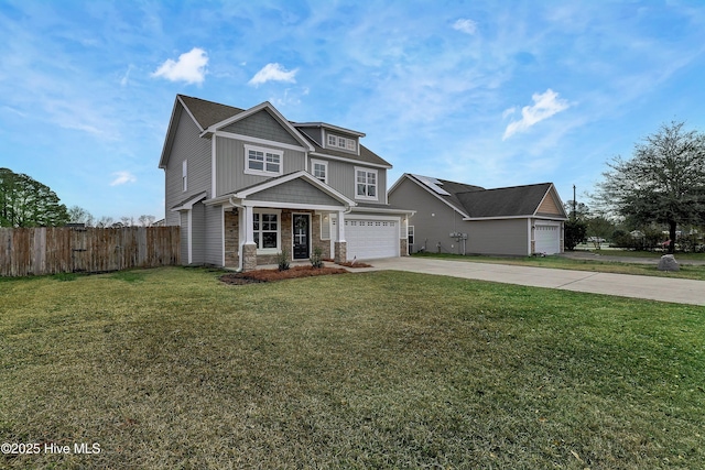
[(704, 307), (219, 274), (0, 280), (0, 468), (705, 468)]

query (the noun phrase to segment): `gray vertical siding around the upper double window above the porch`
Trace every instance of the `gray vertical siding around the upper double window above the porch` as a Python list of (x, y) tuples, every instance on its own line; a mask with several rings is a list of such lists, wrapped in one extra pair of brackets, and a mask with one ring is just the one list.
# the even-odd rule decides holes
[[(218, 168), (216, 175), (216, 196), (223, 196), (225, 194), (234, 193), (238, 189), (249, 187), (259, 183), (262, 183), (270, 177), (276, 176), (259, 176), (248, 175), (245, 173), (245, 144), (237, 139), (216, 138), (216, 168)], [(261, 146), (265, 149), (278, 149), (274, 145), (250, 144), (253, 146)], [(306, 170), (306, 157), (303, 151), (295, 151), (290, 149), (283, 149), (283, 173), (294, 173), (302, 170)]]

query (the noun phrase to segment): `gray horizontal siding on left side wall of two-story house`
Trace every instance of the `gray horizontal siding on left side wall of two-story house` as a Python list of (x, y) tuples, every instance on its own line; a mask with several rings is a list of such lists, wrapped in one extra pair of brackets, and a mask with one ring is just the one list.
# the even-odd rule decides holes
[[(164, 171), (165, 222), (177, 226), (180, 218), (172, 208), (204, 190), (210, 194), (210, 140), (198, 136), (198, 128), (186, 112), (181, 113), (172, 151)], [(182, 165), (188, 161), (188, 189), (182, 190)]]

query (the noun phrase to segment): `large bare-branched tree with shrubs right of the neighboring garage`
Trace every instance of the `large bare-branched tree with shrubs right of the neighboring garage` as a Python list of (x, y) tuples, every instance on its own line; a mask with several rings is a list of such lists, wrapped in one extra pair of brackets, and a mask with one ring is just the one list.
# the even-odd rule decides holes
[(588, 196), (592, 210), (570, 201), (566, 249), (592, 236), (623, 248), (705, 250), (705, 134), (684, 127), (664, 123), (634, 144), (631, 159), (612, 157)]

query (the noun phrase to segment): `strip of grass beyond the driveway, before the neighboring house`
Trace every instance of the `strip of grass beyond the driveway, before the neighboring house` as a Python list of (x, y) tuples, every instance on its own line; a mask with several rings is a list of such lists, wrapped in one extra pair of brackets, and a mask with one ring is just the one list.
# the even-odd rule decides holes
[[(639, 253), (639, 254), (633, 254)], [(626, 258), (644, 258), (653, 259), (653, 264), (643, 263), (629, 263), (621, 261), (600, 261), (599, 258), (594, 260), (575, 260), (564, 256), (480, 256), (469, 255), (464, 256), (460, 254), (449, 253), (414, 253), (414, 256), (422, 258), (437, 258), (443, 260), (453, 261), (470, 261), (474, 263), (495, 263), (495, 264), (513, 264), (522, 266), (538, 266), (538, 267), (554, 267), (560, 270), (577, 270), (577, 271), (595, 271), (600, 273), (614, 273), (614, 274), (636, 274), (644, 276), (660, 276), (684, 280), (705, 281), (705, 265), (704, 264), (685, 264), (691, 261), (705, 261), (705, 255), (702, 253), (696, 254), (676, 254), (675, 259), (681, 263), (681, 271), (679, 272), (662, 272), (657, 269), (659, 264), (660, 253), (643, 253), (643, 252), (627, 252), (621, 250), (604, 250), (600, 254), (605, 256), (626, 256)]]

